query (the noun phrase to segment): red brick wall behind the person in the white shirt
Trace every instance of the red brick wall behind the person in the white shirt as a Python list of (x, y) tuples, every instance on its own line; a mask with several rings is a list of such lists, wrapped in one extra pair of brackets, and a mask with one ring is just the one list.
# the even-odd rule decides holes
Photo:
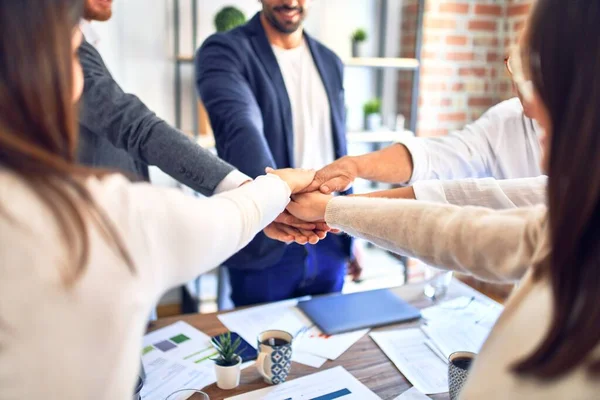
[[(417, 1), (425, 1), (417, 135), (445, 135), (514, 96), (504, 57), (534, 0), (404, 0), (400, 57), (414, 57)], [(412, 74), (398, 79), (410, 115)]]

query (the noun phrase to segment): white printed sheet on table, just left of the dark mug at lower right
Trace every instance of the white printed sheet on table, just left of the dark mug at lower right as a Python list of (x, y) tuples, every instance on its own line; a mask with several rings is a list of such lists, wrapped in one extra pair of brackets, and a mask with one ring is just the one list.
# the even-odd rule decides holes
[(427, 347), (427, 337), (419, 328), (372, 332), (370, 336), (419, 391), (448, 391), (448, 367)]

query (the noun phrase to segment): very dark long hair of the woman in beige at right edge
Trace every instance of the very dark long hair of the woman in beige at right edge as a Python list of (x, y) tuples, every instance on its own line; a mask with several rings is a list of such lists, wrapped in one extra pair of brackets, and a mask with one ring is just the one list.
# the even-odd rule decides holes
[(600, 2), (538, 0), (524, 53), (551, 124), (548, 207), (552, 285), (542, 344), (516, 371), (555, 378), (600, 360)]

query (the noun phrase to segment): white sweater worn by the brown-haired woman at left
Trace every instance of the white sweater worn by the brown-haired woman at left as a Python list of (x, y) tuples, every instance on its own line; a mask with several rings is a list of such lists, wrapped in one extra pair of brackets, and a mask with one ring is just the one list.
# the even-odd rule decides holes
[(151, 307), (244, 247), (290, 196), (274, 175), (208, 199), (118, 176), (87, 187), (136, 272), (88, 224), (89, 262), (67, 289), (60, 273), (73, 260), (56, 221), (29, 187), (0, 170), (2, 400), (131, 399)]

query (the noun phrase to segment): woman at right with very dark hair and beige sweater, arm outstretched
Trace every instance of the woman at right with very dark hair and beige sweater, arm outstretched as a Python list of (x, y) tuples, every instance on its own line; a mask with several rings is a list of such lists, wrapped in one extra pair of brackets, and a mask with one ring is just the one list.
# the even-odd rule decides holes
[(292, 213), (483, 279), (520, 281), (461, 399), (600, 398), (600, 2), (538, 0), (513, 79), (544, 128), (548, 210), (297, 197)]

